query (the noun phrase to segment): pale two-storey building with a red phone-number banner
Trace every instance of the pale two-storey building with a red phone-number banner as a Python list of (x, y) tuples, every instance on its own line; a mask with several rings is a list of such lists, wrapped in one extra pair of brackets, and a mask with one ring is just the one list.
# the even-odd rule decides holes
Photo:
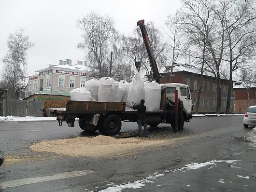
[(59, 61), (59, 65), (49, 65), (48, 68), (35, 71), (35, 75), (28, 78), (26, 96), (35, 93), (67, 95), (72, 89), (85, 86), (89, 79), (97, 77), (96, 70), (77, 61), (72, 65), (71, 60)]

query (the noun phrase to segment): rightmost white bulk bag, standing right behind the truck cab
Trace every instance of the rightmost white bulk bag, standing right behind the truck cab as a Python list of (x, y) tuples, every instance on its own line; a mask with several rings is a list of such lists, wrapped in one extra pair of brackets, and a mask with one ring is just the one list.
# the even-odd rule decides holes
[(161, 102), (161, 85), (157, 82), (149, 82), (145, 85), (145, 106), (148, 111), (160, 109)]

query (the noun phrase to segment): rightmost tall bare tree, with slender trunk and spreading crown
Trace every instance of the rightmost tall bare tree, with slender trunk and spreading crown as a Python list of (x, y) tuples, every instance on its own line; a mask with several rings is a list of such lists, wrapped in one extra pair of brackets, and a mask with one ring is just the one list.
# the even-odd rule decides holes
[[(228, 0), (226, 0), (228, 1)], [(221, 1), (230, 4), (224, 12), (224, 29), (227, 39), (227, 49), (224, 51), (223, 60), (229, 64), (228, 100), (225, 113), (229, 113), (231, 91), (233, 88), (233, 72), (246, 67), (246, 61), (256, 56), (256, 14), (249, 1), (232, 0)], [(224, 7), (224, 6), (222, 6)]]

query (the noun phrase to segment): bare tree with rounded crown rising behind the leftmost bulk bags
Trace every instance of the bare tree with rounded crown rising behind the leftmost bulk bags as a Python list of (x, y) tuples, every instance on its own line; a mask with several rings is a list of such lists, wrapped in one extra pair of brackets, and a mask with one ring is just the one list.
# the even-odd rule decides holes
[(79, 19), (78, 27), (83, 32), (83, 42), (78, 44), (78, 48), (87, 52), (90, 66), (98, 69), (100, 77), (108, 76), (111, 49), (118, 39), (114, 20), (91, 12)]

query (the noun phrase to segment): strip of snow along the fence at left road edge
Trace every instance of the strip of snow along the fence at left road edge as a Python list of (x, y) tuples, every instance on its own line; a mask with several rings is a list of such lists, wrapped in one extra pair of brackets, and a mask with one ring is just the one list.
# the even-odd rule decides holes
[(33, 121), (56, 121), (56, 117), (14, 117), (0, 116), (0, 122), (33, 122)]

